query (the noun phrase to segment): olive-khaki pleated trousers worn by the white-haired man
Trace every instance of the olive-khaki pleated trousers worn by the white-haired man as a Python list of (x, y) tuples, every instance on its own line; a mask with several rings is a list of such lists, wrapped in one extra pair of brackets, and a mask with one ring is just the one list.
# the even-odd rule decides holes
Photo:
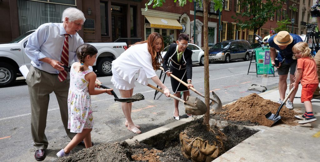
[(64, 129), (68, 137), (72, 139), (76, 133), (71, 133), (70, 129), (68, 129), (69, 74), (66, 80), (60, 82), (58, 74), (50, 74), (31, 65), (26, 81), (31, 103), (31, 135), (36, 150), (48, 147), (48, 140), (44, 130), (47, 121), (49, 95), (52, 92), (55, 93), (59, 103)]

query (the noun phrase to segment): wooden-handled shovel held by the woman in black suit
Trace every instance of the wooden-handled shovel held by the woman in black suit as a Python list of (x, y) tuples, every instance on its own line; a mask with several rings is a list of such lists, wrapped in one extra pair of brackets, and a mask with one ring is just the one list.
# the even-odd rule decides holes
[[(161, 70), (164, 71), (164, 69), (162, 67), (160, 67)], [(182, 81), (181, 79), (179, 79), (178, 77), (174, 76), (173, 74), (170, 74), (171, 77), (173, 77), (174, 79), (178, 80), (180, 83), (182, 83), (184, 86), (188, 87), (188, 84), (184, 81)], [(196, 89), (194, 89), (193, 87), (190, 87), (190, 89), (195, 92), (196, 94), (204, 97), (203, 94), (201, 94), (200, 92), (198, 92)], [(216, 112), (216, 113), (220, 113), (221, 110), (222, 110), (222, 103), (221, 103), (221, 100), (220, 98), (217, 96), (216, 93), (214, 93), (212, 91), (212, 96), (213, 97), (210, 97), (210, 100), (211, 100), (211, 103), (210, 103), (210, 107), (213, 108), (213, 111)]]

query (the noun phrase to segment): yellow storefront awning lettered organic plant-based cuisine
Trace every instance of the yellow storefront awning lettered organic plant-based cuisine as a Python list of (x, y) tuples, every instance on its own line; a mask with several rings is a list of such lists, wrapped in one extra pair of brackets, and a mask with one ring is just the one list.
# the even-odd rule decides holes
[(168, 28), (168, 29), (182, 29), (181, 24), (171, 18), (160, 18), (153, 16), (145, 16), (150, 23), (150, 27)]

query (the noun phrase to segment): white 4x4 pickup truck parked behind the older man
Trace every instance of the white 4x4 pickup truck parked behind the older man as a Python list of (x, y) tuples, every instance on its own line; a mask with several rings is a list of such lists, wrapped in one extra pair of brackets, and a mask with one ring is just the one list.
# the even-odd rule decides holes
[[(27, 65), (29, 68), (31, 60), (25, 54), (29, 35), (35, 30), (28, 31), (20, 35), (13, 41), (0, 44), (0, 87), (10, 85), (16, 80), (18, 74), (21, 74), (19, 67)], [(98, 49), (97, 62), (93, 69), (97, 70), (102, 76), (111, 75), (111, 63), (120, 56), (126, 49), (125, 42), (104, 42), (89, 43)]]

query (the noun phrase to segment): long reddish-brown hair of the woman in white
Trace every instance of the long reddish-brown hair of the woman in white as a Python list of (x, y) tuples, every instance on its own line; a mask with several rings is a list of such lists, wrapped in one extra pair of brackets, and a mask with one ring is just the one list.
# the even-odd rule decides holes
[[(162, 47), (160, 49), (159, 52), (156, 52), (154, 50), (154, 46), (156, 45), (156, 41), (161, 38), (161, 41), (162, 41)], [(162, 56), (160, 54), (160, 52), (164, 49), (164, 42), (163, 42), (163, 38), (162, 38), (162, 35), (159, 34), (159, 33), (151, 33), (149, 36), (148, 36), (148, 39), (146, 41), (141, 41), (141, 42), (137, 42), (135, 43), (134, 45), (136, 44), (142, 44), (142, 43), (147, 43), (148, 44), (148, 51), (151, 55), (151, 58), (152, 58), (152, 67), (154, 70), (158, 70), (159, 67), (161, 66), (162, 64)], [(133, 46), (133, 45), (130, 45), (130, 46)], [(129, 46), (129, 47), (130, 47)]]

